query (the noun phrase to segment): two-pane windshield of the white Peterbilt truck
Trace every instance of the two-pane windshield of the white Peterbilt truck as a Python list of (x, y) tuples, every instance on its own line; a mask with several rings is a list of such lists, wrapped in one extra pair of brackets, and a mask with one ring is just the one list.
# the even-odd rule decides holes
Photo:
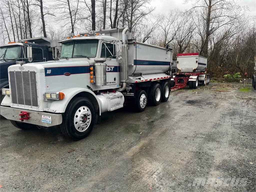
[(96, 57), (98, 40), (77, 40), (62, 43), (60, 58)]

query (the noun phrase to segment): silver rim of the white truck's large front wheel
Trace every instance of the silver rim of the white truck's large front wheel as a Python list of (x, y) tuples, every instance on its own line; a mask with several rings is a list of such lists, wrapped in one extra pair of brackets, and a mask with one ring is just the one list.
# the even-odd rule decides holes
[(83, 132), (88, 129), (91, 123), (91, 111), (87, 106), (81, 106), (75, 113), (74, 126), (77, 131)]

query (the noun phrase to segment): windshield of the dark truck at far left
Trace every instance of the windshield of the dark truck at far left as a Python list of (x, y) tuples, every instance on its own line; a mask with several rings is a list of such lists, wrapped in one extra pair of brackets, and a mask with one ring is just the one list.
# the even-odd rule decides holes
[(0, 48), (0, 59), (18, 59), (20, 57), (21, 46), (4, 46)]

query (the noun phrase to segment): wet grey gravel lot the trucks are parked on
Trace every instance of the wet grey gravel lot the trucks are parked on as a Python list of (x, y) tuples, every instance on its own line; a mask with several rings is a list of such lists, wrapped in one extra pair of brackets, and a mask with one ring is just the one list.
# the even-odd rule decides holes
[(103, 113), (78, 142), (58, 127), (24, 131), (1, 119), (0, 191), (255, 191), (256, 92), (240, 86)]

